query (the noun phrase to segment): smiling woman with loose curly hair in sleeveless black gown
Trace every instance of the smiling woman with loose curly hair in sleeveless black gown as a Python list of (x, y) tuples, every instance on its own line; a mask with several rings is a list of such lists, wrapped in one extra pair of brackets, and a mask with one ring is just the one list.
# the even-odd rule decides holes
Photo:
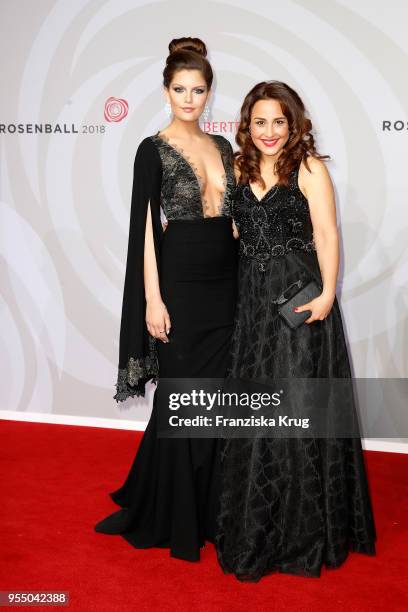
[[(338, 236), (332, 183), (299, 96), (256, 85), (241, 109), (233, 203), (240, 234), (238, 302), (229, 377), (349, 378), (335, 295)], [(310, 172), (309, 172), (310, 168)], [(323, 290), (293, 330), (276, 298), (314, 279)], [(342, 410), (343, 404), (336, 404)], [(375, 554), (360, 438), (226, 439), (216, 547), (227, 573), (319, 576), (349, 550)]]

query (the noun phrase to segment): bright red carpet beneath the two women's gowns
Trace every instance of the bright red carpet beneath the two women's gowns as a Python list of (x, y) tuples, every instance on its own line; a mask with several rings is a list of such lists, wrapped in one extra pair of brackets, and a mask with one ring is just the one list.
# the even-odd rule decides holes
[(192, 564), (93, 531), (117, 508), (108, 492), (122, 484), (140, 433), (13, 421), (0, 428), (2, 591), (69, 591), (69, 610), (99, 612), (408, 609), (408, 455), (365, 453), (376, 557), (351, 553), (321, 578), (274, 574), (242, 584), (222, 573), (210, 544)]

